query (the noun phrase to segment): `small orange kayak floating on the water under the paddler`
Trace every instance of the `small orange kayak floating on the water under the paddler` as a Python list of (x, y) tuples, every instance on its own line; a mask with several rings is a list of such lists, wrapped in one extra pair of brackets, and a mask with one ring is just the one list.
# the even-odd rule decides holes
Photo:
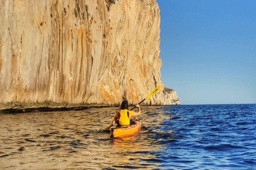
[(111, 128), (110, 134), (114, 137), (123, 136), (127, 134), (133, 134), (140, 130), (140, 121), (138, 119), (132, 120), (134, 125), (117, 126), (116, 128)]

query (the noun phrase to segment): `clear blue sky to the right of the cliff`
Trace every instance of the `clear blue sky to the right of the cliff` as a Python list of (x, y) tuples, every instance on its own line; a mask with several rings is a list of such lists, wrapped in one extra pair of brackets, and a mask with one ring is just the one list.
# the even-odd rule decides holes
[(181, 104), (256, 103), (256, 0), (157, 0), (161, 80)]

